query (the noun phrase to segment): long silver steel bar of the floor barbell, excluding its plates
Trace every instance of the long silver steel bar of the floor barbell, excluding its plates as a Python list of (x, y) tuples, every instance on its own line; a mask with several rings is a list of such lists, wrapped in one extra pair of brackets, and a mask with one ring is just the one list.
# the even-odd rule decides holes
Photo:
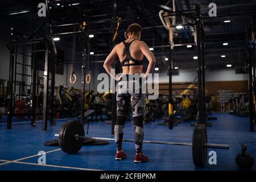
[[(59, 134), (55, 134), (55, 137), (59, 137)], [(84, 139), (95, 139), (95, 140), (106, 140), (106, 141), (114, 141), (114, 138), (101, 138), (101, 137), (80, 137), (80, 136), (74, 136), (76, 138), (84, 138)], [(132, 139), (123, 139), (123, 142), (134, 142)], [(150, 140), (143, 140), (143, 143), (154, 143), (154, 144), (170, 144), (170, 145), (176, 145), (176, 146), (192, 146), (192, 143), (183, 143), (183, 142), (162, 142), (162, 141), (150, 141)], [(229, 150), (228, 144), (216, 144), (216, 143), (207, 143), (204, 144), (207, 148), (218, 148), (218, 149), (224, 149)]]

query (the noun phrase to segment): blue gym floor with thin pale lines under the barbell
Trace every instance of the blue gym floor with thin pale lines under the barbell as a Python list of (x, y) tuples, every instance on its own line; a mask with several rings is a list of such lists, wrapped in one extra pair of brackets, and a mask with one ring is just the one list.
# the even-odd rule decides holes
[[(31, 127), (29, 120), (13, 120), (13, 130), (6, 130), (6, 116), (0, 120), (0, 171), (2, 170), (239, 170), (235, 158), (241, 151), (241, 144), (247, 144), (247, 151), (256, 157), (256, 133), (249, 132), (249, 118), (230, 114), (213, 114), (217, 117), (212, 127), (208, 129), (209, 143), (229, 144), (229, 150), (217, 150), (217, 165), (196, 168), (193, 165), (192, 149), (187, 146), (170, 146), (163, 144), (144, 144), (143, 152), (150, 158), (147, 163), (135, 164), (134, 144), (123, 143), (127, 158), (115, 161), (115, 145), (110, 142), (105, 146), (83, 146), (75, 155), (65, 154), (59, 147), (44, 146), (47, 140), (56, 139), (61, 125), (67, 119), (59, 119), (55, 126), (49, 126), (48, 131), (42, 131), (42, 121), (38, 127)], [(168, 126), (158, 126), (162, 121), (150, 122), (144, 125), (145, 140), (162, 140), (175, 142), (191, 142), (193, 127), (191, 122), (183, 122), (168, 130)], [(85, 130), (86, 130), (85, 125)], [(105, 122), (90, 122), (89, 136), (108, 137), (111, 125)], [(133, 139), (133, 126), (126, 123), (124, 138)], [(208, 152), (211, 149), (208, 149)], [(45, 151), (46, 165), (38, 164), (39, 151)], [(256, 165), (253, 167), (256, 170)]]

